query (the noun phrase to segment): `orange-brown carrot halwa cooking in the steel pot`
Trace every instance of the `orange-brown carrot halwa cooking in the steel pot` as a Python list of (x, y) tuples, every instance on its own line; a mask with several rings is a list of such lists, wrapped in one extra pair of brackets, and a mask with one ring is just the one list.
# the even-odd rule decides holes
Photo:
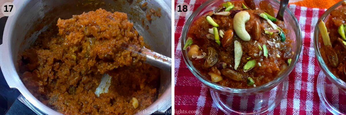
[[(143, 37), (126, 13), (98, 9), (56, 25), (18, 60), (23, 83), (42, 103), (67, 115), (130, 115), (157, 99), (160, 70), (143, 63)], [(104, 74), (112, 77), (111, 85), (97, 97)]]

